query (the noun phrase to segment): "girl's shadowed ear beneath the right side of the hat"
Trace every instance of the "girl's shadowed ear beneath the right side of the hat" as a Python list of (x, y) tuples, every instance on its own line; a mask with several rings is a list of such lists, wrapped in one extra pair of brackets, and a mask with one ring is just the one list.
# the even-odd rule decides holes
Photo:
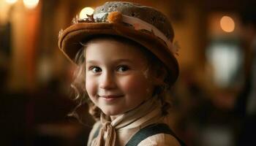
[(167, 76), (167, 70), (163, 67), (157, 67), (153, 71), (153, 81), (155, 85), (163, 85), (165, 83), (165, 77)]

